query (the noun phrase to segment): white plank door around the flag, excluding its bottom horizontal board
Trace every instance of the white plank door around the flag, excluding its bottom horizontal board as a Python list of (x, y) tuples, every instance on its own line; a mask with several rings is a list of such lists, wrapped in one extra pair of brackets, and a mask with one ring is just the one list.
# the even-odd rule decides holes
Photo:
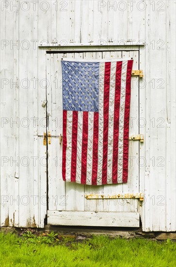
[[(81, 53), (47, 54), (47, 110), (48, 132), (51, 133), (51, 144), (48, 144), (48, 209), (50, 211), (96, 211), (96, 212), (137, 212), (138, 200), (87, 200), (84, 195), (91, 193), (138, 193), (139, 192), (139, 141), (129, 141), (129, 170), (127, 184), (83, 185), (68, 183), (62, 180), (62, 58), (75, 59), (108, 59), (133, 57), (133, 69), (139, 67), (139, 51), (103, 51)], [(139, 86), (138, 77), (132, 77), (130, 102), (129, 135), (138, 134), (139, 127)], [(133, 121), (133, 123), (131, 123)]]

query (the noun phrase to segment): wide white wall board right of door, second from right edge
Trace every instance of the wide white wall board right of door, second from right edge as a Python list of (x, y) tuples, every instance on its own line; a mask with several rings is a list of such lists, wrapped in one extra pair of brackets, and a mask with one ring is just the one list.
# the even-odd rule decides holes
[[(166, 231), (166, 71), (162, 69), (166, 66), (166, 43), (163, 41), (166, 38), (163, 30), (166, 5), (155, 8), (160, 9), (157, 17), (152, 5), (147, 5), (146, 9), (146, 171), (149, 171), (149, 178), (146, 179), (145, 192), (149, 216), (145, 216), (145, 229)], [(162, 68), (157, 67), (160, 64)]]

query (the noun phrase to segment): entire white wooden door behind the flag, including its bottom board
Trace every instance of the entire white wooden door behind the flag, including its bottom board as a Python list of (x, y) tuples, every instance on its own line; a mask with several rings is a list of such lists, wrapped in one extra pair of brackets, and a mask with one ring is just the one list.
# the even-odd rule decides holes
[[(82, 226), (139, 226), (139, 200), (86, 199), (85, 196), (139, 193), (139, 141), (129, 141), (128, 183), (83, 185), (62, 179), (62, 67), (61, 59), (112, 59), (133, 57), (139, 67), (139, 51), (95, 51), (47, 53), (48, 133), (48, 224)], [(129, 135), (139, 134), (139, 77), (131, 82)]]

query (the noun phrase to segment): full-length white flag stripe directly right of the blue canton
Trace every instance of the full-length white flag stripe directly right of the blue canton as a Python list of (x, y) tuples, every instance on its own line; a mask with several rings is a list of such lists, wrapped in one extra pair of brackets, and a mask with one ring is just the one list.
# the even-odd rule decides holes
[(100, 66), (99, 66), (99, 119), (98, 119), (97, 185), (102, 184), (104, 75), (105, 75), (105, 64), (100, 63)]

